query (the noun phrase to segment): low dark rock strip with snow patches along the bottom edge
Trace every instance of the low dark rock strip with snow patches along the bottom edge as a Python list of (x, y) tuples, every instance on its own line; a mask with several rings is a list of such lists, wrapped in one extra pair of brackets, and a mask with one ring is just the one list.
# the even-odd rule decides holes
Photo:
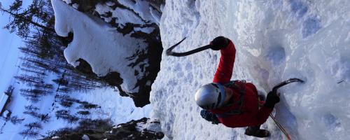
[(159, 121), (142, 118), (115, 127), (103, 125), (92, 129), (86, 129), (85, 126), (76, 130), (59, 130), (46, 139), (162, 139), (164, 134), (158, 130), (160, 130)]

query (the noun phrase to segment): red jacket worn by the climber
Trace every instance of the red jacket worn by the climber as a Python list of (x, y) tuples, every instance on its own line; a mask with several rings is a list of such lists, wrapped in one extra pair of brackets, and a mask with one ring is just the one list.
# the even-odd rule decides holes
[[(225, 84), (230, 82), (233, 64), (235, 63), (236, 49), (235, 45), (230, 41), (230, 44), (221, 50), (220, 63), (218, 69), (216, 70), (214, 76), (214, 83)], [(262, 106), (260, 109), (258, 107), (258, 91), (252, 83), (238, 83), (241, 86), (245, 86), (244, 102), (242, 113), (239, 115), (218, 117), (218, 120), (227, 127), (247, 127), (253, 125), (261, 125), (265, 123), (269, 117), (269, 113), (272, 109)], [(237, 102), (239, 99), (239, 92), (233, 90), (232, 101)], [(220, 109), (212, 109), (211, 113), (225, 113), (232, 109), (239, 109), (238, 104), (233, 104), (232, 106), (226, 106)]]

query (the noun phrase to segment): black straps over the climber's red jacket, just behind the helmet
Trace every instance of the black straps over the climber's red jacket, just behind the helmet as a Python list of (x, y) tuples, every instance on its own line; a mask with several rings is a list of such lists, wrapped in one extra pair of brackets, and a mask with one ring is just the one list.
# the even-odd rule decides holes
[(238, 90), (239, 92), (239, 99), (237, 102), (233, 102), (231, 104), (226, 104), (225, 106), (232, 106), (234, 104), (239, 104), (239, 109), (232, 109), (230, 111), (227, 111), (225, 113), (221, 113), (221, 114), (216, 114), (217, 117), (221, 117), (221, 118), (225, 118), (228, 116), (234, 116), (234, 115), (239, 115), (242, 113), (242, 109), (243, 109), (243, 104), (244, 104), (244, 94), (246, 92), (246, 88), (245, 86), (241, 86), (241, 84), (237, 84), (237, 82), (239, 83), (246, 83), (245, 80), (231, 80), (229, 83), (225, 83), (225, 87), (233, 87), (235, 90)]

